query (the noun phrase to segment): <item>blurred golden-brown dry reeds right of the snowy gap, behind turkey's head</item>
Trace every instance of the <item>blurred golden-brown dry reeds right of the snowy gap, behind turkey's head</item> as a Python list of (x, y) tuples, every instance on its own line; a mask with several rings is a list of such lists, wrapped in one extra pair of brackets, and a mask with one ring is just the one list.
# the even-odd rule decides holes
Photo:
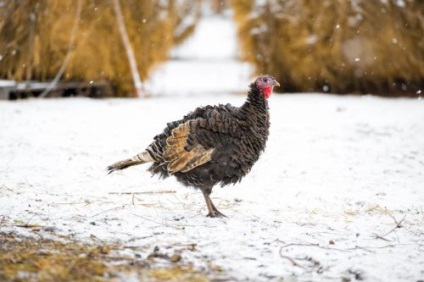
[(245, 60), (285, 91), (416, 96), (424, 2), (232, 1)]

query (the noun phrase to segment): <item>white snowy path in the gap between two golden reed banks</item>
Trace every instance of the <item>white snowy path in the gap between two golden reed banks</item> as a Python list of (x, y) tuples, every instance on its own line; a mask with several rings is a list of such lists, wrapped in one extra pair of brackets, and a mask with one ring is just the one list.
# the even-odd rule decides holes
[(146, 83), (152, 96), (241, 93), (252, 68), (238, 60), (231, 14), (203, 18), (193, 37), (171, 52)]

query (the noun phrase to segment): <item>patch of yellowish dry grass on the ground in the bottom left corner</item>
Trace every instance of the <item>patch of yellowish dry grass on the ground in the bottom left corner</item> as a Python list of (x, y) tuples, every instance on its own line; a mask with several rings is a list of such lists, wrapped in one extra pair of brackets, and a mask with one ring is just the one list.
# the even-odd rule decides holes
[(173, 257), (170, 267), (155, 268), (154, 256), (117, 256), (118, 249), (0, 233), (0, 281), (208, 281)]

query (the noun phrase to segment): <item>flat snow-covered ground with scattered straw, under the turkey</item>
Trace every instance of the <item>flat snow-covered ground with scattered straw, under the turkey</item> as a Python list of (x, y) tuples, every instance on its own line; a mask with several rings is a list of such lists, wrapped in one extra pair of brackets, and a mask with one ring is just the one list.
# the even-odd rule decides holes
[(0, 102), (1, 230), (41, 225), (45, 236), (118, 241), (141, 257), (158, 246), (240, 281), (424, 277), (422, 101), (274, 95), (266, 152), (212, 195), (225, 219), (206, 218), (199, 191), (145, 166), (106, 175), (167, 121), (243, 100)]

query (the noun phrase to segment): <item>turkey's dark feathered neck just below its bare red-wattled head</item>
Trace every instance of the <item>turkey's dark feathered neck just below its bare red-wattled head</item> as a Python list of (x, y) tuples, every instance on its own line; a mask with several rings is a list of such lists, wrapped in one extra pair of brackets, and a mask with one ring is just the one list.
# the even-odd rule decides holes
[(247, 100), (241, 106), (241, 112), (247, 120), (254, 122), (256, 125), (259, 125), (258, 122), (262, 122), (262, 126), (266, 126), (268, 123), (268, 101), (254, 83), (250, 85)]

